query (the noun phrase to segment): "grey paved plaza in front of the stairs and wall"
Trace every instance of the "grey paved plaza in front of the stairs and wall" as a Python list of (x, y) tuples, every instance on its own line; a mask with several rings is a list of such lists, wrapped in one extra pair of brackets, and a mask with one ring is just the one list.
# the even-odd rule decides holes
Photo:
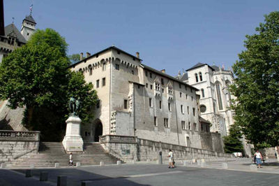
[[(152, 162), (122, 164), (120, 166), (82, 166), (63, 169), (33, 169), (33, 177), (25, 178), (25, 169), (0, 169), (0, 185), (56, 185), (57, 176), (67, 176), (67, 185), (278, 185), (279, 166), (268, 162), (257, 172), (250, 171), (250, 160), (206, 162), (183, 166), (177, 162), (175, 169)], [(48, 172), (48, 181), (40, 182), (40, 172)]]

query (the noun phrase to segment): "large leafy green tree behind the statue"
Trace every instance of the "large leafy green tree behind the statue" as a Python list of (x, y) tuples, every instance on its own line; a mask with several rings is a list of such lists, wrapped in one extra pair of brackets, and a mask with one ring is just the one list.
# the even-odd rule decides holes
[[(82, 73), (70, 72), (67, 43), (53, 29), (38, 30), (0, 64), (0, 99), (10, 108), (25, 106), (23, 123), (57, 141), (65, 129), (70, 96), (80, 96), (83, 122), (93, 117), (97, 95)], [(55, 140), (54, 140), (55, 138)]]

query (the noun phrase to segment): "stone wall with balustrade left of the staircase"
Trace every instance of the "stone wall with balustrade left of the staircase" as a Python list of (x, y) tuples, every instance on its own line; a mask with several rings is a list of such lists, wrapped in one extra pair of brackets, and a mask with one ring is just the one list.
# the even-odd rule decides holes
[(37, 153), (39, 142), (39, 131), (0, 131), (0, 162)]

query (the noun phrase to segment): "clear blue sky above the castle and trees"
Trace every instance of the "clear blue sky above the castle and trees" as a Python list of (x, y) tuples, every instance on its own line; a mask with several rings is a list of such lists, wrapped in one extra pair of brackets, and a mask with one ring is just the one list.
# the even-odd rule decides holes
[(58, 31), (68, 54), (115, 45), (172, 76), (198, 62), (229, 68), (246, 34), (279, 8), (278, 0), (4, 0), (5, 25), (15, 17), (20, 29), (32, 3), (36, 27)]

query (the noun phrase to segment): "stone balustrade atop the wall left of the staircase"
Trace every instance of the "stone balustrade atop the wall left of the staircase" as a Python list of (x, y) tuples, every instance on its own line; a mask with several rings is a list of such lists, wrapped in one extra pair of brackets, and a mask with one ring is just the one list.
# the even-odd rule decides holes
[(0, 141), (40, 141), (40, 131), (0, 130)]

